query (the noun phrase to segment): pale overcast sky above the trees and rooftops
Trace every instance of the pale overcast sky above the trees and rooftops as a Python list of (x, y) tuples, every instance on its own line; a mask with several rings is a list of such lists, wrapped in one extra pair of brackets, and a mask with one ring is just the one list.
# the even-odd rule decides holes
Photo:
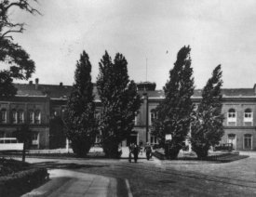
[(99, 61), (107, 50), (128, 59), (130, 79), (168, 80), (177, 52), (190, 45), (195, 86), (202, 88), (222, 64), (223, 87), (256, 83), (255, 0), (39, 0), (42, 16), (12, 10), (25, 21), (16, 34), (36, 64), (39, 83), (72, 85), (75, 62), (86, 50), (96, 81)]

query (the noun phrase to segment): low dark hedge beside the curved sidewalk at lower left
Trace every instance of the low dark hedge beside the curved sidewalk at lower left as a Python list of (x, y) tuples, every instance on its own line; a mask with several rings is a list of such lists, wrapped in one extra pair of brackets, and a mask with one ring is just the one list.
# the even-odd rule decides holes
[(38, 187), (47, 178), (46, 168), (33, 168), (0, 177), (0, 196), (20, 196)]

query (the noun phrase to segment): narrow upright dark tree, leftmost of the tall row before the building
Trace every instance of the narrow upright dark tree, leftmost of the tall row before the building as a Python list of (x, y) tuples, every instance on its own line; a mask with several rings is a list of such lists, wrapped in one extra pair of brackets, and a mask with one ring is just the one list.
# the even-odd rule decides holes
[(80, 60), (76, 63), (73, 90), (67, 102), (65, 116), (66, 136), (71, 140), (72, 149), (79, 157), (87, 155), (97, 134), (90, 72), (88, 54), (83, 51)]

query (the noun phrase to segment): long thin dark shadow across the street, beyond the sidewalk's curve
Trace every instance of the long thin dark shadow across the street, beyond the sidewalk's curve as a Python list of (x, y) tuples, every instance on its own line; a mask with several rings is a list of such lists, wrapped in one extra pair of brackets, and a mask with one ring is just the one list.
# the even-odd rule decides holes
[(74, 163), (67, 163), (67, 164), (60, 164), (58, 162), (40, 162), (34, 163), (36, 167), (47, 167), (49, 169), (80, 169), (80, 168), (92, 168), (92, 167), (107, 167), (107, 164), (74, 164)]

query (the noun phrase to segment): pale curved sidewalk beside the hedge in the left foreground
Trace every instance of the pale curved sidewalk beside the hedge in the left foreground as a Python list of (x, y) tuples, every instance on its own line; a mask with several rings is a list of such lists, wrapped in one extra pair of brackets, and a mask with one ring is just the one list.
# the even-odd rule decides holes
[(22, 195), (22, 197), (116, 196), (117, 184), (114, 177), (102, 177), (61, 169), (48, 172), (50, 180), (45, 185)]

